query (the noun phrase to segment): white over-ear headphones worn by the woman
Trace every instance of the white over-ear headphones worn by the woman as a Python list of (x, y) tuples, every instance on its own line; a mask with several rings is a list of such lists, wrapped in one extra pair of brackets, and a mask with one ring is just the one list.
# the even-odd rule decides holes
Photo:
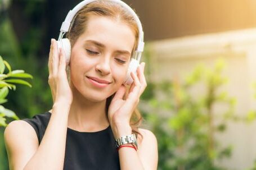
[[(75, 16), (75, 14), (79, 10), (81, 10), (84, 6), (86, 6), (88, 3), (95, 2), (95, 1), (98, 1), (98, 0), (85, 0), (85, 1), (80, 2), (79, 4), (77, 4), (77, 6), (75, 6), (73, 8), (73, 10), (69, 11), (68, 15), (66, 16), (65, 21), (62, 22), (62, 25), (60, 28), (60, 35), (59, 35), (57, 44), (58, 44), (58, 48), (61, 47), (64, 50), (67, 63), (69, 63), (69, 61), (70, 61), (71, 45), (70, 45), (69, 39), (63, 38), (63, 36), (66, 32), (69, 31), (69, 27), (71, 25), (71, 22)], [(126, 77), (125, 81), (123, 82), (123, 84), (131, 85), (133, 82), (133, 79), (131, 77), (131, 72), (136, 73), (137, 67), (140, 65), (141, 54), (142, 54), (143, 48), (144, 48), (143, 30), (142, 30), (141, 21), (140, 21), (140, 19), (138, 19), (138, 16), (132, 10), (132, 8), (128, 6), (128, 4), (126, 4), (120, 0), (109, 0), (109, 1), (116, 2), (116, 3), (120, 4), (121, 6), (127, 8), (127, 10), (129, 12), (131, 12), (131, 14), (133, 15), (134, 20), (136, 21), (137, 26), (138, 26), (138, 30), (139, 30), (138, 46), (137, 46), (137, 49), (135, 50), (135, 52), (132, 56), (132, 59), (129, 63), (127, 77)]]

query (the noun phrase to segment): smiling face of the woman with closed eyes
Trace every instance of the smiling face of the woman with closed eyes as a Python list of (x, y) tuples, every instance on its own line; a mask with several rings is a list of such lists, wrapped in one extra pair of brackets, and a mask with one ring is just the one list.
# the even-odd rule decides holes
[(91, 15), (71, 49), (70, 78), (78, 93), (105, 100), (126, 78), (135, 36), (124, 22)]

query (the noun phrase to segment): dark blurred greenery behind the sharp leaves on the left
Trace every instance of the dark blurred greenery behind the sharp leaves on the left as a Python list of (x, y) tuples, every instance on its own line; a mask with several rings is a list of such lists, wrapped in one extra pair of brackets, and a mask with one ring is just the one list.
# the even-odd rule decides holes
[[(49, 48), (44, 46), (44, 42), (48, 40), (47, 25), (50, 24), (47, 15), (43, 15), (46, 1), (9, 2), (10, 6), (5, 6), (5, 10), (0, 9), (0, 54), (12, 67), (25, 68), (26, 72), (33, 73), (34, 78), (30, 81), (33, 84), (32, 89), (19, 86), (16, 91), (8, 91), (8, 102), (4, 105), (23, 119), (48, 111), (52, 107), (51, 90), (48, 88)], [(11, 120), (12, 118), (6, 117), (6, 123)], [(4, 130), (0, 126), (0, 169), (10, 169), (3, 143)]]

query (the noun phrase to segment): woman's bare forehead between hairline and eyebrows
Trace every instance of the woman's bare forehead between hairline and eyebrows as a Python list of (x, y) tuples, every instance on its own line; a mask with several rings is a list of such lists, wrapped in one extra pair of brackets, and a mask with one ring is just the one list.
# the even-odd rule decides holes
[(78, 42), (82, 43), (91, 39), (104, 44), (106, 48), (132, 52), (135, 34), (124, 21), (91, 15), (84, 33), (78, 38)]

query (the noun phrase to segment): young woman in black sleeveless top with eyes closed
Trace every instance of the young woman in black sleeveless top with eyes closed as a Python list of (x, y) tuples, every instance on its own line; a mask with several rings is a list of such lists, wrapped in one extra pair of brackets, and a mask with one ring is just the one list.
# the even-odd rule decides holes
[[(156, 169), (157, 140), (139, 128), (134, 112), (146, 88), (145, 63), (123, 85), (137, 47), (138, 26), (126, 8), (112, 1), (84, 6), (67, 34), (71, 58), (51, 41), (51, 111), (12, 121), (5, 130), (10, 169)], [(116, 149), (115, 140), (135, 134)], [(135, 137), (136, 139), (136, 137)]]

